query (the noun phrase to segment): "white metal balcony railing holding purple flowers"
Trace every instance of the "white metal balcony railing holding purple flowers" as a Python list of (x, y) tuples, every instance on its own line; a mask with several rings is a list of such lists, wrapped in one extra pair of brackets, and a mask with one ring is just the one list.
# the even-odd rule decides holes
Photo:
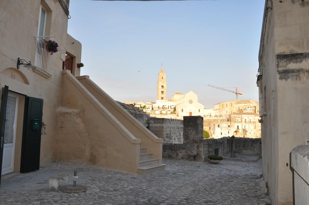
[(36, 37), (36, 59), (34, 65), (48, 73), (53, 74), (53, 55), (47, 51), (47, 44), (44, 40), (49, 40), (54, 36), (38, 36)]

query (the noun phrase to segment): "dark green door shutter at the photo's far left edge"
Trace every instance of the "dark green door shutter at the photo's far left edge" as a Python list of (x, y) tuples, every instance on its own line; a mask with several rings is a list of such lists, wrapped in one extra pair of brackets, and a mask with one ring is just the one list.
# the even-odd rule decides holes
[(0, 110), (0, 183), (1, 183), (2, 157), (3, 157), (3, 138), (5, 129), (5, 119), (6, 119), (6, 104), (7, 104), (8, 93), (9, 93), (9, 87), (4, 86), (4, 88), (2, 88), (1, 110)]

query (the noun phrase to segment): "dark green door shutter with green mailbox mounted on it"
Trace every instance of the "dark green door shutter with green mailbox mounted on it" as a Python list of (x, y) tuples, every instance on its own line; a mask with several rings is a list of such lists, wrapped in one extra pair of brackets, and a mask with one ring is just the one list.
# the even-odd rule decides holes
[(40, 167), (42, 114), (43, 99), (27, 97), (20, 165), (22, 173), (38, 170)]

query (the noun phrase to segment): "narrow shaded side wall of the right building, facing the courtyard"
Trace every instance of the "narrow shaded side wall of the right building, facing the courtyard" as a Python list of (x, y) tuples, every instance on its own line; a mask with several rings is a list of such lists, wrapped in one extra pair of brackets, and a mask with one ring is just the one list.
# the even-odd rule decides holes
[[(270, 6), (270, 2), (266, 5)], [(265, 5), (265, 7), (266, 7)], [(266, 22), (266, 23), (265, 23)], [(260, 48), (260, 74), (263, 76), (260, 92), (260, 115), (263, 123), (262, 132), (262, 161), (263, 178), (269, 188), (269, 197), (277, 204), (278, 190), (278, 109), (277, 109), (277, 74), (275, 66), (274, 44), (274, 15), (273, 10), (264, 17)], [(272, 97), (273, 90), (273, 97)], [(272, 99), (273, 98), (273, 99)], [(265, 102), (267, 102), (265, 104)], [(266, 115), (264, 115), (266, 113)]]

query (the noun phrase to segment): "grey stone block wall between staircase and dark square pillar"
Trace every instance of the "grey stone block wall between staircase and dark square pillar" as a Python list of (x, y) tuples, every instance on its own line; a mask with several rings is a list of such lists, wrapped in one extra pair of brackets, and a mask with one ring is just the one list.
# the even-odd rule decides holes
[[(134, 116), (134, 115), (133, 115)], [(157, 137), (163, 138), (163, 143), (182, 144), (183, 120), (166, 118), (149, 118), (149, 130)]]

